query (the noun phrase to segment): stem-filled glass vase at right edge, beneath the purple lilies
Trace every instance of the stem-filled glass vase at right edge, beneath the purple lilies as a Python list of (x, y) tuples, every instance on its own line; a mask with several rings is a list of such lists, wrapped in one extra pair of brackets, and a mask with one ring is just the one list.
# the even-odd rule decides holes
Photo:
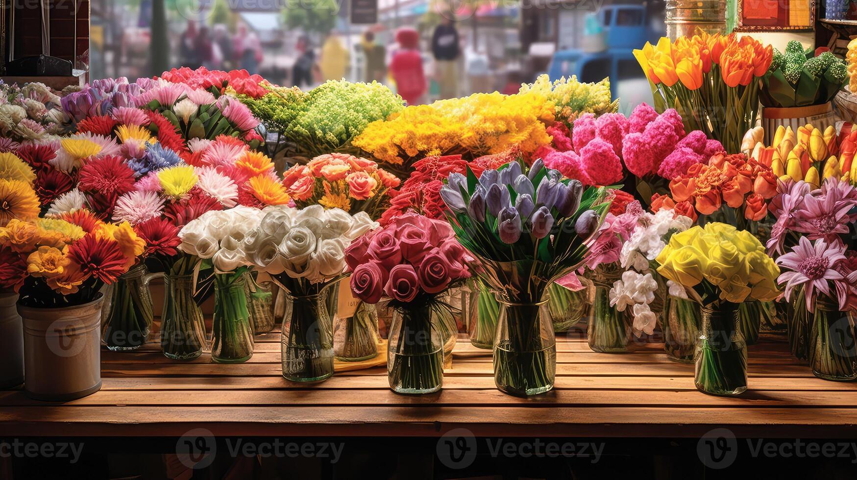
[(819, 298), (812, 315), (809, 363), (812, 375), (831, 381), (857, 380), (854, 314)]

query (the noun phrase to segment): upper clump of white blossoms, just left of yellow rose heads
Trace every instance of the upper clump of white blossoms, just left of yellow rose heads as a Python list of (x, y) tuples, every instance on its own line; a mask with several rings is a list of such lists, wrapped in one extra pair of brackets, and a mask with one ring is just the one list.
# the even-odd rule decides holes
[(662, 209), (657, 213), (644, 212), (640, 216), (631, 237), (622, 245), (619, 261), (623, 268), (647, 272), (649, 262), (667, 246), (663, 237), (669, 231), (686, 231), (693, 225), (692, 219), (682, 215), (673, 218), (673, 214), (672, 210)]

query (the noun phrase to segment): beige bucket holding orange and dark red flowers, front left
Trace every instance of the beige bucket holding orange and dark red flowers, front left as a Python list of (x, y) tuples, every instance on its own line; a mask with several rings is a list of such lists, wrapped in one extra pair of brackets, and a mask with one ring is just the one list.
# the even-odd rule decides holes
[(73, 400), (101, 388), (101, 303), (63, 309), (18, 305), (24, 324), (24, 392), (38, 400)]

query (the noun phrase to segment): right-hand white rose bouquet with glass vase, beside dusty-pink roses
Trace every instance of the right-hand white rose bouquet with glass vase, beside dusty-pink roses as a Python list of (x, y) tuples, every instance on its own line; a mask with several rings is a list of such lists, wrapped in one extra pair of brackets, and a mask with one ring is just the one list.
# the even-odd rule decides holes
[(312, 205), (301, 210), (268, 207), (245, 251), (255, 268), (285, 291), (283, 376), (320, 381), (333, 375), (336, 304), (330, 290), (345, 277), (345, 249), (378, 224), (365, 212)]

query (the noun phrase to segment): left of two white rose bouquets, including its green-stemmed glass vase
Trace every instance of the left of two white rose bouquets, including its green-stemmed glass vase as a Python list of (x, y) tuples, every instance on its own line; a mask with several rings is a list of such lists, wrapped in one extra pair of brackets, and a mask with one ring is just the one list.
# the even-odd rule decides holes
[(263, 213), (252, 207), (211, 210), (179, 231), (179, 249), (214, 266), (212, 361), (241, 363), (253, 357), (253, 330), (247, 306), (249, 247)]

